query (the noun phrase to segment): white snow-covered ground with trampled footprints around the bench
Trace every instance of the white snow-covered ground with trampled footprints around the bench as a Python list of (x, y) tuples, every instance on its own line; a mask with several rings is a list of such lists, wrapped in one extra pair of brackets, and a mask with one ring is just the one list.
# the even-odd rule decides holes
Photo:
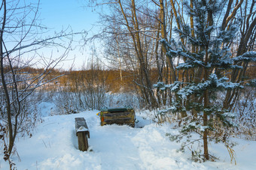
[[(44, 109), (47, 104), (44, 103)], [(44, 112), (49, 112), (44, 110)], [(170, 142), (166, 133), (177, 133), (168, 124), (158, 125), (137, 115), (136, 128), (128, 126), (99, 125), (98, 111), (74, 115), (54, 115), (43, 118), (31, 138), (17, 140), (17, 152), (13, 157), (17, 169), (255, 169), (256, 142), (234, 139), (239, 145), (236, 163), (230, 163), (223, 145), (211, 144), (211, 154), (217, 162), (194, 163), (190, 152), (177, 153), (181, 144)], [(46, 115), (46, 114), (45, 114)], [(78, 150), (75, 136), (75, 118), (84, 117), (90, 130), (90, 151)], [(0, 169), (8, 164), (0, 160)]]

